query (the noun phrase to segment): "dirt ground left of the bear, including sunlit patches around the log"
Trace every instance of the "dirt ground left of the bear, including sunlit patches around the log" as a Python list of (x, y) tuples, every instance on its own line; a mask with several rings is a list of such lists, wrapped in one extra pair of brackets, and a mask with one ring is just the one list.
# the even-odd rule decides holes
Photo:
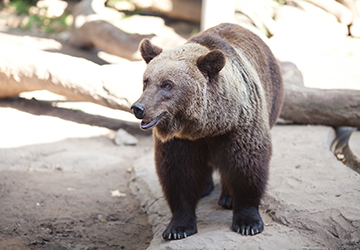
[[(45, 45), (3, 28), (11, 43)], [(97, 51), (59, 50), (106, 63)], [(114, 131), (87, 124), (114, 128), (123, 112), (38, 94), (0, 103), (0, 249), (146, 249), (153, 233), (128, 183), (135, 160), (152, 147), (149, 133), (130, 126), (140, 143), (116, 146)], [(54, 107), (61, 105), (73, 110)]]

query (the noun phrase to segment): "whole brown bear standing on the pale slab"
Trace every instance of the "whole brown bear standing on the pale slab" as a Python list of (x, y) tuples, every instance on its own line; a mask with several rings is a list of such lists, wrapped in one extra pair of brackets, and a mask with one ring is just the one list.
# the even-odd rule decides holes
[(172, 219), (166, 240), (197, 232), (196, 205), (213, 188), (233, 209), (231, 229), (264, 229), (258, 208), (269, 174), (270, 128), (283, 103), (279, 65), (269, 47), (235, 24), (220, 24), (162, 50), (144, 39), (143, 94), (132, 105), (142, 129), (153, 129), (156, 171)]

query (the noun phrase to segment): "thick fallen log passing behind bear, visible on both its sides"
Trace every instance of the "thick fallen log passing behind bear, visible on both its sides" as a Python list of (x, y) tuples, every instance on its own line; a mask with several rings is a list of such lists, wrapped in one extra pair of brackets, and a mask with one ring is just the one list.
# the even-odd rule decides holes
[[(72, 100), (131, 112), (142, 92), (143, 62), (99, 66), (81, 58), (7, 47), (0, 50), (0, 98), (48, 90)], [(300, 124), (360, 128), (360, 91), (306, 88), (293, 63), (281, 63), (285, 100), (280, 117)]]

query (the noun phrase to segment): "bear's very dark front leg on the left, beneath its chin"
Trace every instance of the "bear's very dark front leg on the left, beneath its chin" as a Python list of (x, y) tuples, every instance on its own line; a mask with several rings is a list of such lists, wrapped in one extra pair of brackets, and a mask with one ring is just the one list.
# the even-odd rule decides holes
[(197, 233), (195, 209), (199, 199), (213, 188), (212, 169), (201, 141), (155, 140), (155, 165), (172, 219), (163, 232), (165, 240)]

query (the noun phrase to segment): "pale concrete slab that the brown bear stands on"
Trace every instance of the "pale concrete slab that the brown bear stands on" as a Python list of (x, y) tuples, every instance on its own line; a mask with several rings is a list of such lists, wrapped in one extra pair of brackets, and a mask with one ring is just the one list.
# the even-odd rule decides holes
[(241, 236), (230, 230), (232, 212), (217, 205), (215, 190), (197, 208), (198, 233), (164, 241), (171, 218), (155, 173), (153, 152), (134, 166), (131, 190), (148, 215), (148, 249), (359, 249), (360, 175), (330, 152), (335, 133), (325, 126), (275, 126), (268, 191), (260, 213), (265, 230)]

